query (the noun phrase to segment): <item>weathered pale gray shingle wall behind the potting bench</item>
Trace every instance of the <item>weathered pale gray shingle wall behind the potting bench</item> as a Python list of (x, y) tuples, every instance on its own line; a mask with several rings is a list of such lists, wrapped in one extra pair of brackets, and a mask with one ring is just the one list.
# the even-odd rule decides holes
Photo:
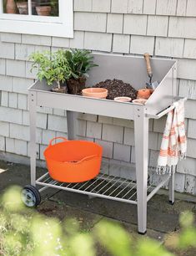
[[(178, 166), (176, 189), (196, 193), (196, 1), (74, 0), (74, 38), (1, 33), (0, 150), (29, 156), (28, 86), (36, 78), (28, 55), (36, 50), (90, 49), (178, 59), (178, 95), (188, 96), (188, 157)], [(39, 108), (38, 158), (53, 136), (66, 136), (66, 112)], [(155, 166), (165, 119), (150, 122), (149, 165)], [(80, 115), (80, 136), (103, 146), (105, 172), (134, 177), (133, 122)], [(14, 155), (12, 155), (14, 156)], [(21, 158), (18, 158), (21, 160)]]

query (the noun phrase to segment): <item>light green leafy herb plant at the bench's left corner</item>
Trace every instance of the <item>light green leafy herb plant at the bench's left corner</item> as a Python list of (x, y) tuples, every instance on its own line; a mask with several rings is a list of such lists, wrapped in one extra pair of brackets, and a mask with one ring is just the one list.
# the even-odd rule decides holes
[[(67, 93), (68, 89), (65, 80), (69, 79), (72, 72), (68, 65), (68, 60), (63, 49), (51, 53), (33, 53), (29, 57), (33, 60), (32, 69), (37, 69), (37, 76), (40, 81), (46, 79), (48, 85), (53, 85), (52, 90), (60, 93)], [(56, 84), (56, 86), (54, 85)]]

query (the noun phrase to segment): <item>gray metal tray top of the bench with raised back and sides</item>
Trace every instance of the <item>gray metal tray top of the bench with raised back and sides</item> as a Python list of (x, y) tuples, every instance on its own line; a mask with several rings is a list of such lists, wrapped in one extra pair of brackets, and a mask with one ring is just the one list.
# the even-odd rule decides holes
[[(105, 79), (123, 79), (138, 90), (146, 86), (148, 80), (145, 63), (142, 57), (119, 56), (113, 54), (93, 54), (99, 66), (92, 69), (87, 85), (92, 86)], [(153, 95), (147, 100), (146, 113), (156, 115), (173, 103), (177, 95), (176, 61), (171, 59), (152, 59), (153, 79), (160, 81)], [(51, 87), (44, 81), (37, 81), (30, 88), (38, 92), (38, 105), (65, 109), (93, 115), (105, 115), (133, 120), (134, 107), (137, 104), (100, 100), (79, 95), (68, 95), (51, 92)]]

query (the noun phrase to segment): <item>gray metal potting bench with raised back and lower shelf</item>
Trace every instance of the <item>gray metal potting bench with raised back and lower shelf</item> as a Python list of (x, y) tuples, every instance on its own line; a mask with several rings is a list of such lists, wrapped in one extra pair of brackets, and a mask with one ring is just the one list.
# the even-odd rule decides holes
[[(88, 86), (105, 79), (122, 79), (133, 84), (138, 90), (145, 87), (148, 81), (146, 65), (143, 57), (122, 56), (113, 54), (93, 54), (98, 67), (93, 68), (87, 80)], [(162, 182), (152, 188), (148, 183), (148, 121), (159, 119), (173, 109), (177, 92), (177, 63), (173, 59), (152, 59), (153, 80), (160, 83), (145, 105), (115, 102), (113, 100), (91, 99), (78, 95), (53, 93), (44, 82), (37, 81), (29, 90), (30, 111), (30, 158), (31, 185), (42, 186), (42, 192), (47, 187), (54, 187), (71, 192), (87, 194), (93, 197), (103, 197), (119, 202), (136, 204), (138, 207), (138, 233), (145, 233), (147, 228), (147, 202), (169, 181), (169, 201), (174, 202), (174, 175), (163, 176)], [(134, 121), (135, 167), (136, 182), (120, 177), (100, 174), (97, 178), (83, 183), (63, 183), (54, 181), (48, 173), (36, 177), (36, 112), (37, 106), (46, 106), (67, 110), (68, 139), (75, 138), (76, 113), (112, 116)], [(109, 183), (109, 186), (107, 185)], [(136, 190), (134, 189), (136, 188)], [(149, 189), (150, 188), (150, 189)], [(33, 199), (31, 189), (27, 191), (27, 200)], [(27, 195), (26, 195), (27, 196)], [(36, 202), (35, 202), (36, 203)]]

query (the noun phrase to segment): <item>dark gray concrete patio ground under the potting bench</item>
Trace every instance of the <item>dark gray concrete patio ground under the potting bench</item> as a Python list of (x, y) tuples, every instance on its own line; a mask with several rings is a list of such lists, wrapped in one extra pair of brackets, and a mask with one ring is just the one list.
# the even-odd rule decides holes
[[(38, 175), (42, 172), (45, 170), (38, 168)], [(29, 166), (0, 161), (1, 193), (13, 184), (23, 187), (29, 183)], [(168, 203), (168, 192), (161, 190), (148, 202), (148, 231), (145, 236), (155, 238), (162, 243), (165, 234), (178, 231), (180, 212), (190, 210), (196, 214), (195, 202), (196, 197), (176, 193), (176, 201), (172, 206)], [(59, 219), (74, 218), (85, 231), (90, 231), (98, 222), (107, 218), (122, 224), (133, 237), (138, 237), (137, 207), (132, 204), (47, 189), (42, 192), (42, 202), (38, 206), (38, 212)], [(195, 253), (191, 251), (191, 253), (182, 255), (195, 255)], [(100, 248), (98, 255), (106, 254)]]

